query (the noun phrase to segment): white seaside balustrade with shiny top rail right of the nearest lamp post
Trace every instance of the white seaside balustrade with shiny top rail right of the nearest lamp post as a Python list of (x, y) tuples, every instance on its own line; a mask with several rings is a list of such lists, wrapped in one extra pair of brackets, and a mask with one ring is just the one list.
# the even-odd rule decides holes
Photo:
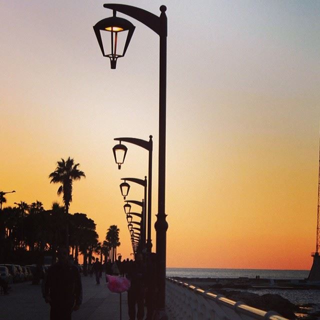
[(171, 278), (166, 280), (166, 308), (174, 320), (287, 320), (274, 311), (259, 310)]

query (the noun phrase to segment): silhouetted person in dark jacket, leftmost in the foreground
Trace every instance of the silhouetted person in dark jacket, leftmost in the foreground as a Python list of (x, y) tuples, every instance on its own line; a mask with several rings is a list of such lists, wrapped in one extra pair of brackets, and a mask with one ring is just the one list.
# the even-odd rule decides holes
[(58, 250), (58, 262), (47, 270), (44, 299), (50, 303), (50, 320), (70, 320), (82, 301), (82, 284), (78, 268), (68, 261), (65, 247)]

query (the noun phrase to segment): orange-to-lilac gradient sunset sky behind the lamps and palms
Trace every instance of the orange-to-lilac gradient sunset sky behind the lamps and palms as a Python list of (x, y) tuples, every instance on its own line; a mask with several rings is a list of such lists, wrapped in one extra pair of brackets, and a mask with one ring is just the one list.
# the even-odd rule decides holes
[[(127, 17), (136, 28), (111, 70), (92, 29), (111, 15), (106, 2), (0, 1), (0, 190), (16, 190), (6, 205), (62, 204), (48, 174), (58, 159), (73, 157), (86, 178), (74, 182), (70, 212), (94, 219), (100, 240), (117, 224), (125, 258), (132, 249), (120, 178), (143, 178), (147, 152), (127, 144), (118, 170), (111, 149), (114, 137), (153, 135), (153, 225), (158, 37)], [(309, 269), (320, 2), (126, 4), (156, 15), (167, 6), (167, 266)], [(131, 184), (129, 198), (142, 196)]]

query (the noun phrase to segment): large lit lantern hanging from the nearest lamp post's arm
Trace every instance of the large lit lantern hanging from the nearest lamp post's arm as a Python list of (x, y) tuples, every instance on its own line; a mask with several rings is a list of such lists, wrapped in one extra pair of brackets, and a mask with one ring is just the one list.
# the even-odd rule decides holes
[[(115, 69), (117, 58), (124, 56), (134, 28), (135, 26), (130, 21), (116, 16), (115, 10), (113, 10), (113, 16), (102, 19), (93, 26), (102, 55), (110, 59), (111, 69)], [(104, 43), (103, 45), (101, 31), (110, 33), (110, 45), (107, 45), (107, 43)], [(125, 41), (121, 41), (124, 45), (120, 47), (118, 37), (124, 35), (123, 33), (125, 32), (123, 31), (128, 32)], [(109, 53), (107, 53), (106, 50), (108, 50)]]

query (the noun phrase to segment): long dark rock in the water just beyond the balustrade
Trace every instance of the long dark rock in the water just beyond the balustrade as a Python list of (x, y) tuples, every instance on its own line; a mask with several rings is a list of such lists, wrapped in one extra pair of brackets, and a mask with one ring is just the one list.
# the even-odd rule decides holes
[[(216, 290), (215, 293), (217, 293)], [(296, 305), (283, 298), (279, 294), (268, 293), (258, 295), (256, 293), (233, 290), (218, 290), (218, 293), (223, 294), (228, 299), (231, 299), (233, 301), (242, 301), (245, 304), (257, 309), (261, 309), (264, 311), (276, 311), (288, 319), (293, 319), (295, 317), (294, 312), (298, 311), (298, 307)]]

